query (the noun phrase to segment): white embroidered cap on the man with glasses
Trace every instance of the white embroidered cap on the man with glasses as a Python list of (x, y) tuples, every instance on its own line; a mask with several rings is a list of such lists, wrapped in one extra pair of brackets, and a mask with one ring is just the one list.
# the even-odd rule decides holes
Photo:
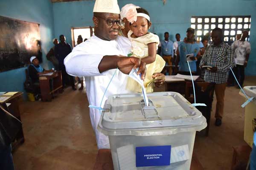
[(120, 14), (117, 0), (96, 0), (93, 12)]

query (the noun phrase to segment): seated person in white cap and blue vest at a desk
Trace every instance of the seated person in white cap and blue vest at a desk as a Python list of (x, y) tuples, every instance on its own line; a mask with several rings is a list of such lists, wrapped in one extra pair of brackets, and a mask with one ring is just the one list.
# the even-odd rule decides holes
[[(35, 56), (30, 57), (30, 62), (31, 62), (31, 65), (28, 66), (28, 74), (29, 74), (29, 78), (32, 80), (32, 83), (33, 83), (34, 96), (36, 99), (39, 99), (39, 95), (40, 95), (39, 75), (46, 74), (53, 71), (45, 70), (44, 68), (42, 68), (41, 65), (39, 65), (39, 60)], [(52, 85), (50, 85), (50, 88), (51, 87)]]

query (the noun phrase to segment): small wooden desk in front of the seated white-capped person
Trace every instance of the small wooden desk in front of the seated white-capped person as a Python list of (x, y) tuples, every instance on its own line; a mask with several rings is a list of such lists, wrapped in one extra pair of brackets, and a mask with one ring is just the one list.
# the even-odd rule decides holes
[[(53, 89), (50, 89), (50, 79), (52, 79)], [(41, 89), (42, 101), (51, 101), (52, 94), (56, 91), (62, 91), (61, 71), (55, 71), (52, 75), (40, 75), (39, 83)]]

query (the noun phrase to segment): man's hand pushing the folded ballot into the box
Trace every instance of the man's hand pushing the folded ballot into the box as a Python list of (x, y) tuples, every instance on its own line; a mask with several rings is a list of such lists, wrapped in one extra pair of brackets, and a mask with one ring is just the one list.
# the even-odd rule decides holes
[(116, 62), (116, 65), (124, 74), (129, 74), (133, 68), (139, 68), (137, 74), (141, 74), (141, 79), (143, 79), (143, 81), (145, 80), (146, 63), (141, 61), (140, 58), (120, 57), (120, 59)]

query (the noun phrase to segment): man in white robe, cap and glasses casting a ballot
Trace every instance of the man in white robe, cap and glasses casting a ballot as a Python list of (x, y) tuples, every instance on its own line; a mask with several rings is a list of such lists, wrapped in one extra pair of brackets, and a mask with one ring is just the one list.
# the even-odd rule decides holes
[[(108, 0), (108, 3), (104, 0), (96, 0), (93, 23), (95, 35), (73, 48), (65, 58), (64, 64), (68, 74), (85, 77), (89, 104), (103, 108), (108, 96), (129, 93), (126, 90), (126, 82), (127, 74), (132, 68), (139, 68), (138, 74), (141, 73), (141, 78), (144, 79), (145, 62), (137, 57), (123, 57), (131, 51), (131, 42), (128, 42), (126, 37), (118, 35), (122, 20), (120, 20), (117, 0)], [(110, 148), (108, 136), (97, 130), (100, 116), (101, 111), (90, 108), (90, 120), (98, 149)]]

